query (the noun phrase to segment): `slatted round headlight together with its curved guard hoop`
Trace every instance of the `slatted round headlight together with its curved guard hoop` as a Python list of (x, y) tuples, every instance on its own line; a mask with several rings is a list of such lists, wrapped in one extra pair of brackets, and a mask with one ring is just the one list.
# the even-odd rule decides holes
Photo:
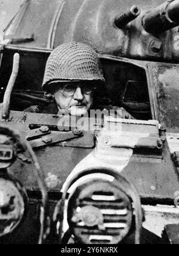
[(79, 243), (119, 244), (134, 234), (130, 239), (140, 243), (140, 197), (119, 172), (105, 168), (74, 172), (62, 191), (54, 212), (60, 242), (66, 243), (73, 234)]

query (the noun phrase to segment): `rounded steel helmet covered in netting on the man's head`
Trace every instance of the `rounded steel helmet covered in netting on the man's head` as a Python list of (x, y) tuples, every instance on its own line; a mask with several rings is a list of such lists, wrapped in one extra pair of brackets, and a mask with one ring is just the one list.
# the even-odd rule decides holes
[(79, 80), (104, 83), (100, 59), (86, 44), (79, 42), (61, 44), (47, 60), (42, 88), (48, 90), (48, 84), (53, 81)]

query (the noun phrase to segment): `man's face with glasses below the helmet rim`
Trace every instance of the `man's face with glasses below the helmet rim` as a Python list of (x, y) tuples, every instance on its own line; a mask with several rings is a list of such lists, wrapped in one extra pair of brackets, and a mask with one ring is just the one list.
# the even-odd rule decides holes
[(89, 82), (58, 84), (54, 92), (58, 109), (77, 117), (87, 114), (93, 103), (94, 86)]

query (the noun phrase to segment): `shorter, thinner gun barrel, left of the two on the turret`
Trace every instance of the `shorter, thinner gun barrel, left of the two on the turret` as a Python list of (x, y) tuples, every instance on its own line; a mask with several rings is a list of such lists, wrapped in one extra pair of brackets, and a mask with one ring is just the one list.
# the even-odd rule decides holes
[(138, 8), (136, 5), (133, 5), (129, 11), (126, 11), (125, 14), (116, 17), (116, 27), (118, 27), (119, 29), (124, 28), (129, 22), (132, 22), (132, 20), (136, 19), (140, 15), (140, 13), (140, 8)]

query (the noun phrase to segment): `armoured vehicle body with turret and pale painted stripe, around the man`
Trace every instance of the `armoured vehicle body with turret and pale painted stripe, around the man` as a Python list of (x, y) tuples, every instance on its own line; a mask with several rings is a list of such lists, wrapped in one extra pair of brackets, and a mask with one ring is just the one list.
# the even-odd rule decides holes
[[(25, 197), (29, 198), (27, 207), (24, 204), (25, 213), (20, 225), (10, 228), (9, 232), (6, 231), (7, 223), (4, 229), (0, 228), (2, 243), (17, 240), (19, 243), (58, 243), (59, 240), (67, 243), (70, 236), (67, 233), (62, 236), (66, 225), (69, 225), (70, 234), (75, 234), (81, 243), (137, 243), (141, 228), (139, 197), (144, 209), (141, 243), (176, 242), (168, 235), (173, 225), (165, 225), (178, 224), (179, 214), (179, 22), (175, 17), (179, 4), (178, 1), (163, 2), (138, 0), (135, 1), (135, 8), (131, 8), (131, 0), (25, 1), (5, 29), (4, 41), (1, 42), (1, 102), (4, 100), (4, 104), (0, 114), (0, 134), (4, 135), (5, 127), (18, 130), (35, 155), (29, 147), (24, 151), (17, 147), (16, 161), (13, 159), (6, 170), (4, 159), (0, 159), (2, 177), (6, 173), (8, 179), (11, 176), (13, 181), (20, 181), (27, 193)], [(160, 16), (161, 10), (165, 10), (165, 15)], [(153, 19), (158, 22), (158, 31)], [(49, 54), (53, 48), (68, 41), (89, 44), (100, 56), (106, 79), (104, 95), (97, 92), (100, 109), (110, 102), (124, 107), (136, 120), (118, 120), (120, 130), (112, 127), (106, 132), (105, 127), (113, 123), (110, 118), (98, 125), (95, 120), (92, 130), (88, 129), (90, 119), (87, 118), (87, 127), (84, 129), (75, 123), (69, 131), (65, 131), (51, 97), (44, 95), (41, 86)], [(11, 111), (7, 112), (4, 92), (15, 53), (20, 55), (20, 63), (11, 93)], [(31, 105), (41, 105), (43, 113), (24, 112)], [(5, 111), (8, 114), (4, 116)], [(45, 131), (42, 128), (44, 126)], [(74, 132), (76, 128), (82, 133)], [(61, 129), (63, 131), (59, 131)], [(1, 146), (4, 148), (3, 141)], [(37, 163), (42, 168), (40, 171)], [(88, 176), (90, 173), (95, 173), (92, 178)], [(76, 185), (69, 199), (73, 199), (76, 205), (72, 204), (72, 209), (63, 211), (65, 191), (70, 179), (76, 177), (72, 182), (75, 183), (83, 175), (87, 175), (84, 183), (87, 187), (84, 188), (81, 183)], [(124, 214), (125, 218), (126, 215), (128, 217), (125, 227), (121, 225), (124, 220), (115, 217), (112, 212), (118, 208), (119, 191), (117, 193), (116, 187), (112, 187), (105, 192), (105, 188), (110, 187), (105, 182), (112, 182), (111, 176), (118, 182), (118, 189), (123, 191), (121, 198), (128, 203), (128, 214)], [(99, 185), (98, 191), (94, 191), (91, 183), (88, 183), (91, 180), (103, 182), (102, 188)], [(128, 182), (134, 185), (137, 194)], [(101, 211), (97, 210), (97, 223), (93, 220), (93, 224), (88, 221), (84, 225), (78, 225), (78, 222), (74, 224), (73, 217), (77, 216), (78, 207), (85, 208), (91, 202), (87, 200), (89, 202), (79, 205), (79, 197), (85, 191), (97, 200), (96, 203), (92, 199), (90, 207)], [(133, 203), (131, 208), (122, 193), (126, 193), (125, 196)], [(85, 194), (82, 199), (86, 197)], [(1, 204), (0, 200), (0, 209)], [(44, 215), (42, 208), (45, 209)], [(103, 213), (103, 223), (106, 223), (106, 229), (103, 229), (100, 220), (101, 212), (105, 212), (105, 209), (110, 210), (110, 213)], [(94, 208), (89, 208), (89, 211), (94, 212)], [(64, 212), (67, 212), (67, 217)], [(74, 216), (71, 216), (72, 212)], [(130, 212), (133, 217), (130, 217)], [(86, 212), (81, 215), (81, 218), (87, 217)], [(68, 221), (68, 224), (63, 223), (63, 220)], [(133, 224), (126, 232), (126, 227), (130, 226), (129, 220)], [(116, 230), (114, 223), (123, 231)], [(48, 228), (45, 229), (46, 226)], [(126, 232), (127, 236), (120, 232)], [(119, 234), (122, 239), (119, 239)]]

